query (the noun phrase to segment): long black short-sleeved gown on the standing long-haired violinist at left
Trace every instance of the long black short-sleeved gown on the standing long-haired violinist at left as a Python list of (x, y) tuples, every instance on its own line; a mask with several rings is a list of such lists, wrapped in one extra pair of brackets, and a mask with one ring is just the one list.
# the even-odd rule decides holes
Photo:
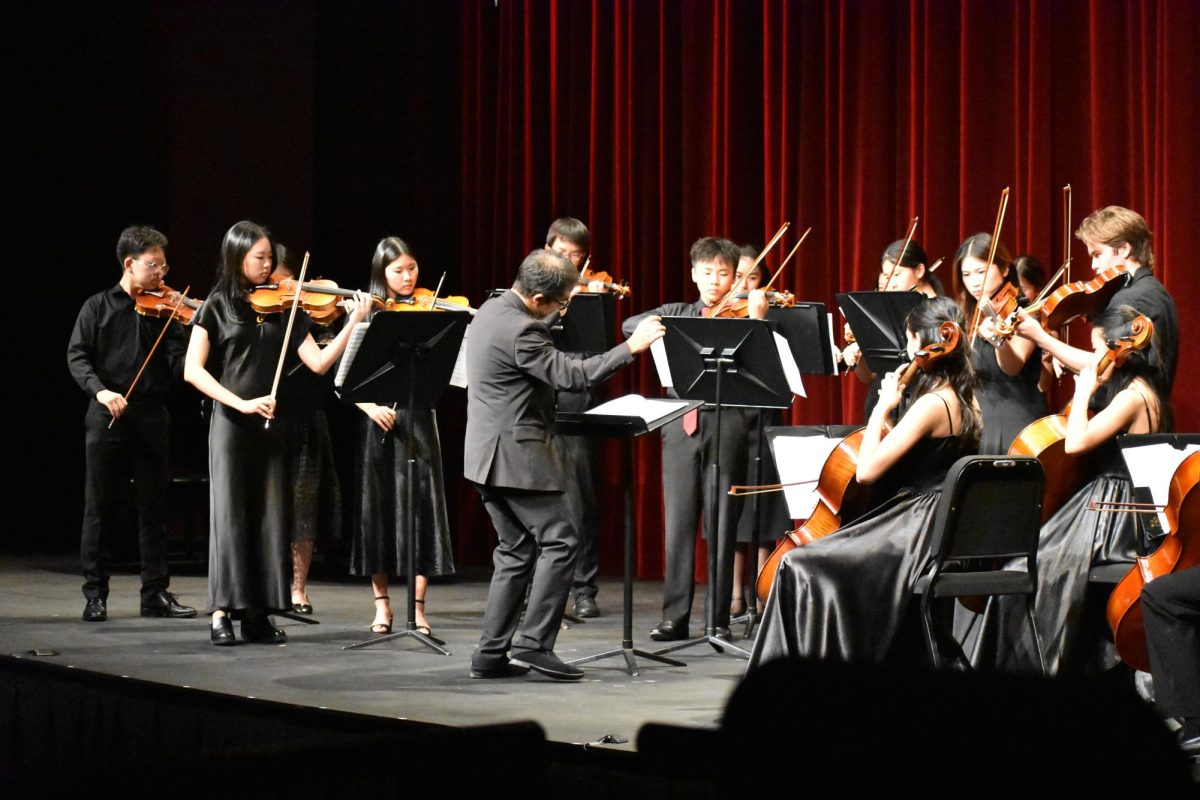
[[(196, 324), (209, 336), (206, 367), (242, 398), (270, 393), (288, 312), (257, 317), (250, 303), (214, 295)], [(308, 333), (299, 314), (284, 367)], [(278, 610), (292, 607), (294, 458), (283, 392), (276, 419), (264, 429), (257, 414), (212, 404), (209, 425), (209, 612), (218, 608)], [(302, 419), (302, 414), (300, 415)]]

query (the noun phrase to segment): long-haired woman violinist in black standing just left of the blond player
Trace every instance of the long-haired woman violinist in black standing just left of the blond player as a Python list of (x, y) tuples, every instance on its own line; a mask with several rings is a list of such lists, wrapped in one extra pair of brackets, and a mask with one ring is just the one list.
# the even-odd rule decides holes
[[(1004, 284), (1018, 289), (1016, 270), (1012, 266), (1008, 251), (998, 245), (989, 263), (990, 251), (991, 234), (974, 234), (954, 253), (954, 269), (962, 277), (959, 299), (968, 325), (977, 319), (980, 296), (991, 300)], [(1038, 389), (1042, 359), (1033, 342), (1019, 336), (1007, 339), (997, 336), (995, 320), (988, 314), (978, 314), (978, 320), (971, 366), (978, 379), (976, 398), (983, 416), (979, 452), (1002, 456), (1025, 426), (1045, 416), (1045, 397)]]

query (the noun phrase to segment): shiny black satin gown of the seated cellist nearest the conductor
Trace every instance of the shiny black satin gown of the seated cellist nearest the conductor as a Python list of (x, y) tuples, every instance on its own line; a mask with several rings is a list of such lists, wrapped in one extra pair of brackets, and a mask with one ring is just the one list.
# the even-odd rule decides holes
[(920, 648), (919, 636), (898, 634), (930, 558), (942, 481), (968, 452), (959, 437), (918, 441), (878, 487), (888, 501), (784, 557), (749, 668), (785, 656), (883, 662)]

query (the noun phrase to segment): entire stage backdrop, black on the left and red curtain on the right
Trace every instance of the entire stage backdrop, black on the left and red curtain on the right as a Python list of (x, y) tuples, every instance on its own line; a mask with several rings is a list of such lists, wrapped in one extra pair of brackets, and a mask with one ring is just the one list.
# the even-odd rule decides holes
[[(782, 285), (832, 303), (871, 285), (913, 216), (934, 258), (990, 230), (1004, 186), (1003, 241), (1056, 264), (1069, 182), (1073, 224), (1109, 203), (1145, 213), (1192, 331), (1190, 0), (48, 4), (12, 38), (6, 252), (37, 302), (10, 320), (4, 483), (11, 509), (40, 516), (6, 527), (6, 551), (77, 541), (86, 401), (64, 350), (79, 303), (116, 279), (116, 234), (133, 222), (170, 236), (170, 283), (200, 296), (223, 231), (248, 217), (342, 285), (365, 283), (380, 236), (404, 236), (426, 283), (445, 271), (478, 301), (574, 215), (592, 227), (593, 265), (634, 288), (628, 315), (696, 296), (696, 237), (761, 245), (784, 221), (781, 247), (812, 234)], [(1182, 375), (1200, 366), (1186, 347), (1182, 360)], [(858, 419), (853, 379), (806, 385), (792, 421)], [(1186, 389), (1174, 399), (1195, 429)], [(649, 361), (606, 391), (656, 393)], [(203, 469), (194, 404), (181, 392), (174, 461)], [(463, 405), (451, 390), (442, 408), (448, 499), (460, 561), (486, 565), (486, 515), (458, 477)], [(349, 417), (334, 417), (347, 440)], [(614, 451), (606, 463), (602, 565), (616, 573)], [(638, 575), (658, 578), (655, 438), (637, 464)]]

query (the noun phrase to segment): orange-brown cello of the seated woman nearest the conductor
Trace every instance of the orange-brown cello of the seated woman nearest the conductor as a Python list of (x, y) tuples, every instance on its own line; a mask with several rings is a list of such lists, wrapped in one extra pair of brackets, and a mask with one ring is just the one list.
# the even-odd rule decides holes
[[(908, 385), (918, 369), (929, 372), (935, 363), (958, 349), (962, 331), (956, 324), (942, 323), (938, 333), (942, 341), (918, 350), (913, 355), (912, 362), (901, 373), (898, 381), (901, 390)], [(887, 434), (890, 429), (890, 426), (884, 423), (883, 433)], [(859, 483), (856, 477), (859, 451), (865, 434), (866, 427), (854, 431), (838, 443), (838, 446), (826, 458), (821, 467), (821, 476), (817, 479), (816, 507), (799, 528), (788, 531), (780, 540), (775, 552), (770, 554), (758, 572), (755, 591), (762, 602), (767, 602), (770, 587), (775, 583), (775, 576), (779, 573), (779, 565), (788, 552), (835, 533), (841, 528), (844, 519), (857, 519), (876, 505), (877, 499), (874, 497), (872, 488)]]

